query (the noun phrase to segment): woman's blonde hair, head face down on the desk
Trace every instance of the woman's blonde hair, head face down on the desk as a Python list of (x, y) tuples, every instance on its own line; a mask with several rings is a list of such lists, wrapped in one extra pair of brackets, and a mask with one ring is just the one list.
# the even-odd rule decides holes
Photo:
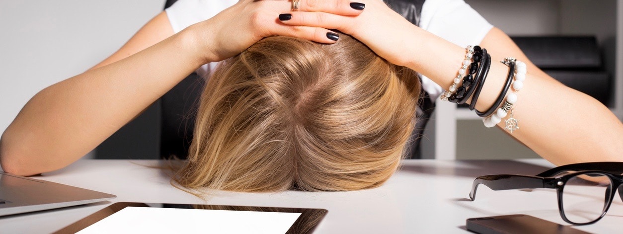
[(267, 37), (217, 68), (174, 180), (239, 192), (358, 190), (396, 171), (420, 83), (349, 35)]

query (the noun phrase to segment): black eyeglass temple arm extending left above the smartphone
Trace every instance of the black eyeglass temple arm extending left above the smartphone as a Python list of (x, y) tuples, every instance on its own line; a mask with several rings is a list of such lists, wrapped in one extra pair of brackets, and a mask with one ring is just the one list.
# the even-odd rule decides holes
[(487, 185), (487, 187), (496, 191), (545, 187), (543, 177), (531, 175), (483, 175), (473, 180), (472, 191), (469, 193), (470, 199), (476, 199), (476, 189), (478, 189), (479, 184)]

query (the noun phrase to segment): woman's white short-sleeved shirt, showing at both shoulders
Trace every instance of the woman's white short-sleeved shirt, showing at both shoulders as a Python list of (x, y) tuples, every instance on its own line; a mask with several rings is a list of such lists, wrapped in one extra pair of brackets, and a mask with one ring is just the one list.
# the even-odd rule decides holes
[[(216, 16), (236, 2), (238, 1), (178, 0), (165, 11), (173, 31), (177, 33), (192, 24)], [(422, 6), (419, 27), (460, 47), (467, 47), (467, 45), (480, 44), (493, 26), (464, 0), (427, 0)], [(208, 63), (201, 66), (196, 72), (202, 77), (208, 77), (216, 64)], [(457, 67), (459, 65), (457, 64)], [(429, 93), (432, 100), (435, 100), (443, 88), (423, 75), (420, 77), (422, 78), (422, 88)]]

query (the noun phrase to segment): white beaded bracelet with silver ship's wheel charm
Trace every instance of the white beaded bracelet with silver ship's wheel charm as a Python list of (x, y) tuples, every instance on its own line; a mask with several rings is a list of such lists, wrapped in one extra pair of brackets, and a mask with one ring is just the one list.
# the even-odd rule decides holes
[(527, 67), (526, 63), (517, 61), (513, 58), (506, 58), (502, 63), (508, 65), (511, 62), (515, 63), (515, 80), (513, 81), (512, 85), (513, 90), (515, 91), (511, 91), (510, 93), (508, 93), (508, 95), (506, 95), (506, 101), (504, 102), (504, 105), (502, 105), (493, 115), (483, 118), (482, 121), (487, 128), (492, 128), (493, 126), (500, 123), (502, 121), (502, 118), (505, 118), (508, 114), (508, 111), (510, 111), (509, 118), (505, 120), (506, 126), (504, 129), (510, 131), (510, 133), (513, 133), (513, 131), (519, 129), (519, 119), (513, 118), (513, 104), (515, 104), (517, 101), (516, 92), (523, 88), (523, 81), (526, 80)]

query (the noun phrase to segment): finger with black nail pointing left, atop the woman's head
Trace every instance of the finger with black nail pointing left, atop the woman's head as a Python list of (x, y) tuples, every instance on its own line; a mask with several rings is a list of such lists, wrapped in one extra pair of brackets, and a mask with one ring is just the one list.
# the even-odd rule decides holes
[(352, 34), (354, 25), (352, 16), (338, 16), (325, 12), (292, 12), (279, 15), (279, 21), (290, 26), (322, 27), (338, 29), (345, 34)]

